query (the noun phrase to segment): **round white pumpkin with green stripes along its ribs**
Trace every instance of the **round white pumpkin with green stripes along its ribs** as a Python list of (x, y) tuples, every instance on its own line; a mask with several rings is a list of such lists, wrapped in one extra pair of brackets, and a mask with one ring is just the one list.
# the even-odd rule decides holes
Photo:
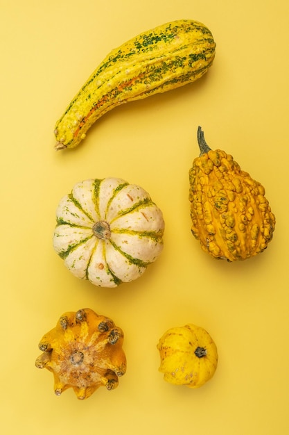
[(55, 252), (78, 278), (116, 287), (163, 249), (164, 218), (146, 190), (118, 178), (77, 183), (56, 211)]

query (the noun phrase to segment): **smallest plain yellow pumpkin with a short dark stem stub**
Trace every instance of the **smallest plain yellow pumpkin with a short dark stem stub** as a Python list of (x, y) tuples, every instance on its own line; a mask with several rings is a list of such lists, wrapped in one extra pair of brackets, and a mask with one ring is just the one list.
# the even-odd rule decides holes
[(218, 351), (209, 333), (193, 324), (168, 329), (157, 344), (159, 371), (170, 384), (198, 388), (218, 366)]

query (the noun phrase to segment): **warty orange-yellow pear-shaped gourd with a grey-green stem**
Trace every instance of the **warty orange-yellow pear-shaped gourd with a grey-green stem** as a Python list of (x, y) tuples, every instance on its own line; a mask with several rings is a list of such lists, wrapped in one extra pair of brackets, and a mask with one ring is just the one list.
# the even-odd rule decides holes
[(214, 258), (246, 260), (268, 247), (275, 217), (265, 188), (225, 151), (213, 151), (198, 128), (200, 156), (189, 171), (191, 231)]

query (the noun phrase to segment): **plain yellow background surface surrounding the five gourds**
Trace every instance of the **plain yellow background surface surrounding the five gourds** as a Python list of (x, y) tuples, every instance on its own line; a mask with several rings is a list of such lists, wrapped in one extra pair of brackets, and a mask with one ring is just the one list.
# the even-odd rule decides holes
[[(3, 434), (289, 433), (288, 47), (286, 0), (0, 1), (1, 404)], [(175, 19), (216, 39), (200, 81), (120, 106), (73, 151), (54, 151), (62, 111), (108, 52)], [(277, 217), (268, 249), (214, 261), (191, 236), (196, 131), (263, 183)], [(82, 179), (137, 183), (164, 213), (164, 251), (139, 280), (100, 289), (52, 247), (55, 208)], [(119, 388), (56, 397), (35, 368), (40, 338), (64, 311), (90, 307), (125, 331)], [(198, 390), (158, 372), (159, 337), (193, 322), (216, 341), (215, 376)]]

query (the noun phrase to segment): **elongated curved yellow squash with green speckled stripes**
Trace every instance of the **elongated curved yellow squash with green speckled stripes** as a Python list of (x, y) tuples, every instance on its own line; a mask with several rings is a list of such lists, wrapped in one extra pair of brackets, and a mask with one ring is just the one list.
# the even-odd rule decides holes
[(216, 43), (200, 22), (177, 20), (111, 51), (55, 125), (55, 149), (76, 147), (96, 120), (116, 106), (191, 83), (213, 63)]

